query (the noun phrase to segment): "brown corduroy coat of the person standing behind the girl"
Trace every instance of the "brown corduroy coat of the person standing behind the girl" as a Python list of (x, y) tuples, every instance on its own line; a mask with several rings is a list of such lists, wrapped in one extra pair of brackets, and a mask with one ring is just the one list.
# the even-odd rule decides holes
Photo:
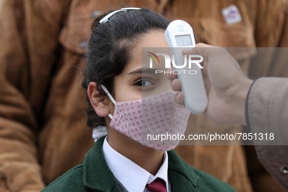
[[(123, 1), (186, 20), (212, 45), (288, 45), (287, 0)], [(227, 25), (221, 9), (231, 4), (238, 7), (242, 21)], [(83, 63), (77, 58), (85, 52), (93, 17), (110, 7), (118, 9), (118, 0), (0, 1), (0, 192), (39, 191), (80, 164), (93, 146), (85, 122)], [(245, 51), (235, 56), (245, 73), (251, 69), (251, 77), (288, 73), (274, 68), (268, 74), (269, 64), (262, 70), (250, 66), (252, 55)], [(188, 125), (219, 126), (203, 115), (191, 115)], [(252, 186), (259, 191), (279, 189), (258, 169), (254, 153), (247, 166), (243, 146), (180, 146), (176, 152), (237, 191), (249, 192)], [(259, 171), (263, 173), (253, 177)]]

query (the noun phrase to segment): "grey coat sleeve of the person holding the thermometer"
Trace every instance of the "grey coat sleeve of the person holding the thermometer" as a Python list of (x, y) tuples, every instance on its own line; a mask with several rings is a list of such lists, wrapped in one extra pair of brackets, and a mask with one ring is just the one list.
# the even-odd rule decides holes
[(288, 191), (288, 78), (254, 81), (246, 101), (246, 118), (250, 131), (258, 136), (254, 144), (259, 160)]

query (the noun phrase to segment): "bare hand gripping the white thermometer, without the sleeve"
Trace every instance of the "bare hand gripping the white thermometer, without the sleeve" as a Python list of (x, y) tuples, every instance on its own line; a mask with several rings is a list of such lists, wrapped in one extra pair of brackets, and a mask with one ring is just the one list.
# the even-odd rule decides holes
[[(253, 81), (246, 77), (237, 61), (226, 49), (204, 43), (183, 51), (183, 55), (204, 58), (202, 75), (209, 100), (204, 114), (219, 124), (246, 125), (245, 102)], [(176, 102), (185, 105), (177, 75), (168, 74), (168, 78), (172, 80), (172, 89), (180, 91), (175, 97)]]

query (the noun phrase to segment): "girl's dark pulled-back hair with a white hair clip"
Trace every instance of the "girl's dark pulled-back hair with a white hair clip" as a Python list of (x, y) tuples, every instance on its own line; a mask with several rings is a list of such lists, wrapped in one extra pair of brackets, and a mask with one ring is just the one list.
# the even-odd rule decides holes
[[(97, 90), (106, 96), (100, 85), (105, 85), (114, 96), (114, 77), (121, 74), (130, 60), (130, 53), (145, 33), (166, 30), (170, 20), (150, 9), (136, 9), (115, 13), (106, 23), (99, 23), (110, 12), (95, 19), (92, 35), (86, 51), (86, 69), (83, 87), (97, 83)], [(163, 37), (164, 38), (164, 37)], [(104, 99), (104, 97), (103, 97)], [(94, 128), (105, 125), (103, 117), (96, 115), (89, 98), (87, 125)]]

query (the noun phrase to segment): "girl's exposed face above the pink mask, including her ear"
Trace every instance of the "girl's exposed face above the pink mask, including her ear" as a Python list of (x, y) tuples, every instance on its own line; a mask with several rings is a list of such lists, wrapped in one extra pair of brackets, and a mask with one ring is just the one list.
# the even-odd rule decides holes
[[(147, 96), (173, 91), (171, 81), (164, 73), (155, 74), (155, 70), (167, 71), (165, 65), (162, 64), (165, 63), (164, 57), (159, 57), (161, 64), (153, 65), (152, 69), (149, 68), (149, 56), (147, 56), (148, 62), (142, 63), (142, 47), (164, 47), (170, 50), (164, 34), (164, 31), (152, 31), (143, 35), (139, 40), (131, 53), (130, 62), (124, 67), (122, 73), (114, 78), (115, 101), (138, 100)], [(106, 125), (109, 127), (111, 119), (107, 115), (109, 113), (114, 114), (114, 103), (108, 96), (103, 100), (103, 96), (96, 89), (95, 82), (89, 84), (88, 96), (97, 115), (105, 117)]]

